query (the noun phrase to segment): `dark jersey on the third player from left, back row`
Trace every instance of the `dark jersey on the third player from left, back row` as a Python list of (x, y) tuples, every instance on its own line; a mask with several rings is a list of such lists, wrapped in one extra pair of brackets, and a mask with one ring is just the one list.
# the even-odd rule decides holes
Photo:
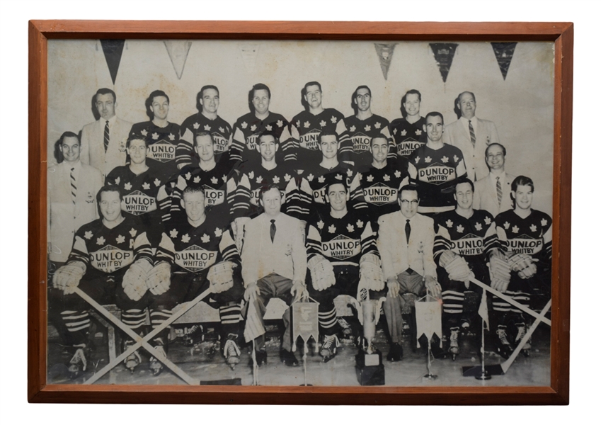
[(234, 124), (230, 160), (234, 162), (246, 161), (248, 159), (260, 161), (261, 155), (257, 151), (258, 136), (263, 131), (270, 131), (279, 140), (282, 131), (287, 128), (287, 125), (288, 121), (279, 113), (270, 112), (265, 120), (258, 119), (252, 112), (242, 115)]

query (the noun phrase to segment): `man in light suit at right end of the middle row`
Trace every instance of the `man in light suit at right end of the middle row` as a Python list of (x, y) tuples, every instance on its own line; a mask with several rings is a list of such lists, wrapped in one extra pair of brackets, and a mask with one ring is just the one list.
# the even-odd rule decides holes
[(474, 208), (486, 210), (494, 217), (499, 212), (513, 208), (511, 183), (515, 176), (505, 173), (505, 155), (507, 151), (499, 143), (491, 143), (486, 148), (486, 166), (488, 176), (474, 183)]

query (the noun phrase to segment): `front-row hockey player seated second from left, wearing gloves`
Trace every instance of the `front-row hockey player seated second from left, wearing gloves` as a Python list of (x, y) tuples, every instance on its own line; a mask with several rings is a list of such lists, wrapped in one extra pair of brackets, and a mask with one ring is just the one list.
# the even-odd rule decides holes
[(156, 273), (151, 273), (149, 286), (170, 286), (179, 302), (191, 301), (211, 288), (208, 302), (219, 309), (220, 336), (225, 341), (223, 354), (234, 369), (240, 361), (240, 302), (244, 286), (229, 219), (206, 214), (202, 186), (184, 188), (181, 203), (185, 220), (168, 222), (156, 250)]

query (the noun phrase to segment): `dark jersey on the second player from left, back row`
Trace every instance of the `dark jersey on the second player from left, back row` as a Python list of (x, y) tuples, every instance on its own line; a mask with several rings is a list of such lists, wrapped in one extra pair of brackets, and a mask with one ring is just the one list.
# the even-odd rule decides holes
[(212, 135), (215, 145), (217, 145), (215, 148), (217, 160), (219, 160), (220, 154), (229, 151), (232, 134), (231, 125), (219, 115), (214, 120), (210, 120), (202, 113), (195, 113), (186, 118), (181, 124), (180, 141), (176, 151), (176, 162), (180, 169), (195, 162), (194, 137), (201, 131), (210, 132)]

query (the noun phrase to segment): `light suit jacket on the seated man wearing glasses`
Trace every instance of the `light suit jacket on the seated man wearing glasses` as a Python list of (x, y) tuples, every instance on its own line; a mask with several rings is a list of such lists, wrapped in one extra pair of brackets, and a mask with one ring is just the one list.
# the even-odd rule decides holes
[(409, 241), (405, 234), (407, 217), (401, 211), (384, 214), (378, 219), (378, 250), (382, 257), (384, 278), (412, 268), (422, 276), (436, 277), (434, 263), (434, 220), (425, 215), (411, 217)]

